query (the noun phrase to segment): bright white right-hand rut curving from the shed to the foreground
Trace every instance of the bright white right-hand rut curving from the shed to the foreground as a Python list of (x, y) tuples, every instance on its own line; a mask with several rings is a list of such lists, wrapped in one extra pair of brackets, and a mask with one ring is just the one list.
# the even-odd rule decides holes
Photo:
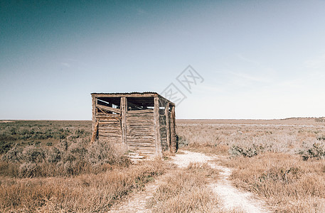
[(268, 212), (263, 207), (263, 202), (255, 200), (250, 192), (241, 192), (233, 187), (229, 177), (232, 173), (230, 168), (225, 168), (216, 163), (210, 162), (218, 159), (217, 156), (210, 157), (203, 153), (193, 153), (190, 151), (183, 151), (183, 155), (176, 155), (173, 157), (174, 163), (179, 167), (187, 167), (189, 163), (208, 163), (212, 168), (220, 170), (220, 180), (210, 185), (213, 192), (223, 200), (223, 209), (232, 210), (238, 209), (243, 212)]

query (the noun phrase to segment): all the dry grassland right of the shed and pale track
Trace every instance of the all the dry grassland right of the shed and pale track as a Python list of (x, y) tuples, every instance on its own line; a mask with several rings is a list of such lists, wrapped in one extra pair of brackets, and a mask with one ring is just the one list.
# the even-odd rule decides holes
[(225, 155), (235, 186), (275, 212), (325, 212), (324, 123), (306, 121), (181, 121), (177, 133), (183, 148)]

